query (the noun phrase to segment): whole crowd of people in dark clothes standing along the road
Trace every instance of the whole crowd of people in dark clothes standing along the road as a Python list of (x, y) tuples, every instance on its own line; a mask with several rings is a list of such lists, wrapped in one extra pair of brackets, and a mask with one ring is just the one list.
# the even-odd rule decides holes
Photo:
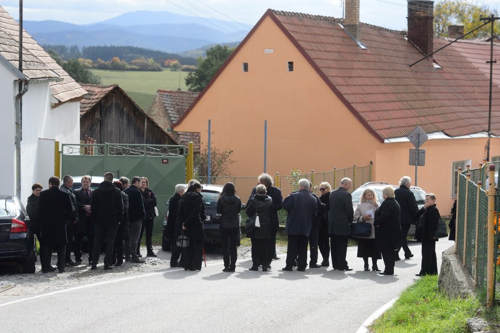
[[(252, 242), (252, 267), (249, 270), (258, 271), (261, 266), (265, 272), (273, 259), (279, 259), (276, 254), (278, 211), (284, 209), (287, 211), (285, 233), (288, 245), (283, 271), (292, 271), (293, 267), (305, 271), (308, 245), (310, 269), (329, 267), (331, 258), (334, 270), (351, 271), (346, 260), (351, 224), (363, 222), (371, 227), (369, 234), (358, 237), (357, 257), (363, 259), (365, 271), (370, 271), (371, 258), (372, 271), (393, 275), (401, 249), (405, 259), (412, 258), (414, 255), (406, 238), (410, 226), (416, 224), (415, 239), (422, 243), (421, 270), (416, 275), (438, 273), (435, 251), (438, 239), (434, 235), (440, 214), (436, 197), (427, 194), (424, 206), (418, 209), (410, 191), (410, 177), (402, 177), (396, 190), (390, 185), (385, 186), (382, 203), (372, 188), (366, 188), (355, 210), (349, 192), (352, 187), (349, 178), (342, 179), (334, 191), (328, 182), (322, 182), (319, 185), (320, 197), (313, 193), (309, 180), (300, 179), (298, 191), (285, 199), (268, 174), (261, 174), (258, 182), (246, 202), (247, 216), (258, 217), (256, 227), (246, 234)], [(157, 202), (146, 177), (133, 177), (131, 181), (122, 177), (113, 182), (113, 174), (106, 173), (96, 190), (90, 188), (90, 176), (82, 177), (81, 183), (82, 187), (73, 191), (73, 178), (64, 176), (59, 189), (59, 178), (51, 177), (48, 190), (41, 191), (39, 183), (32, 187), (27, 210), (32, 230), (40, 241), (43, 273), (56, 270), (51, 266), (52, 249), (57, 250), (59, 272), (64, 272), (66, 266), (80, 265), (84, 236), (88, 239), (88, 264), (93, 270), (97, 269), (104, 241), (104, 270), (122, 265), (123, 260), (144, 263), (140, 254), (144, 231), (147, 256), (156, 256), (152, 248), (152, 229), (154, 217), (158, 215)], [(206, 220), (201, 189), (200, 182), (193, 179), (187, 185), (177, 184), (170, 198), (168, 219), (174, 222), (167, 225), (167, 234), (174, 240), (170, 267), (201, 270), (203, 221)], [(236, 269), (241, 207), (235, 185), (226, 183), (217, 201), (223, 272), (235, 272)], [(189, 241), (179, 247), (175, 240), (181, 235)], [(71, 249), (75, 261), (71, 260)], [(321, 264), (318, 264), (318, 250), (322, 255)], [(383, 271), (378, 267), (379, 259), (383, 259)]]

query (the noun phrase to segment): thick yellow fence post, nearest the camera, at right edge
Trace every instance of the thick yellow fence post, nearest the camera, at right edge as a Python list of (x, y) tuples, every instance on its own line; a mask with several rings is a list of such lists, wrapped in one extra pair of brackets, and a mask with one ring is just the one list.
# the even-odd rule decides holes
[(495, 211), (495, 165), (488, 165), (489, 175), (488, 175), (488, 260), (487, 260), (487, 270), (486, 270), (486, 306), (493, 306), (493, 283), (495, 282), (494, 277), (494, 211)]

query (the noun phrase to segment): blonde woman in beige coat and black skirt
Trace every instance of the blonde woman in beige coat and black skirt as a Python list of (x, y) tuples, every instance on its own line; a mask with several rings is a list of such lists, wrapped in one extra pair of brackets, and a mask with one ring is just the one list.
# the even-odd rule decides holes
[(372, 258), (372, 270), (380, 272), (377, 266), (377, 259), (381, 259), (380, 249), (375, 244), (375, 228), (373, 222), (375, 221), (375, 211), (380, 206), (377, 201), (377, 195), (371, 188), (365, 189), (361, 194), (359, 203), (354, 211), (354, 221), (366, 222), (372, 225), (372, 232), (368, 237), (359, 237), (358, 240), (358, 258), (363, 258), (365, 261), (365, 271), (369, 271), (368, 257)]

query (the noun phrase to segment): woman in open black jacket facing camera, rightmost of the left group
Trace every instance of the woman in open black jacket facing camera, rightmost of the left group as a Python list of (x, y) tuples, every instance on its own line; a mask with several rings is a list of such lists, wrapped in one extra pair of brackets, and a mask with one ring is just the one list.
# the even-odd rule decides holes
[(144, 203), (144, 210), (146, 211), (146, 222), (143, 222), (141, 226), (141, 234), (139, 236), (139, 242), (137, 243), (137, 254), (141, 251), (141, 240), (144, 230), (146, 230), (146, 249), (148, 257), (157, 257), (153, 252), (153, 223), (154, 217), (156, 216), (156, 196), (151, 188), (149, 188), (149, 181), (146, 177), (141, 177), (141, 193)]

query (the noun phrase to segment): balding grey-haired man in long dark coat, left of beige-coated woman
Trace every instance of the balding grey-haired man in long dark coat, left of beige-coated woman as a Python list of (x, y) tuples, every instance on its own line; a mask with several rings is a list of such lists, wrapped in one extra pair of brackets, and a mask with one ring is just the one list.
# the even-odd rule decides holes
[(330, 216), (328, 233), (332, 252), (332, 267), (339, 271), (352, 271), (346, 260), (347, 242), (351, 234), (351, 223), (354, 218), (352, 196), (349, 190), (352, 180), (343, 178), (340, 186), (330, 194)]

